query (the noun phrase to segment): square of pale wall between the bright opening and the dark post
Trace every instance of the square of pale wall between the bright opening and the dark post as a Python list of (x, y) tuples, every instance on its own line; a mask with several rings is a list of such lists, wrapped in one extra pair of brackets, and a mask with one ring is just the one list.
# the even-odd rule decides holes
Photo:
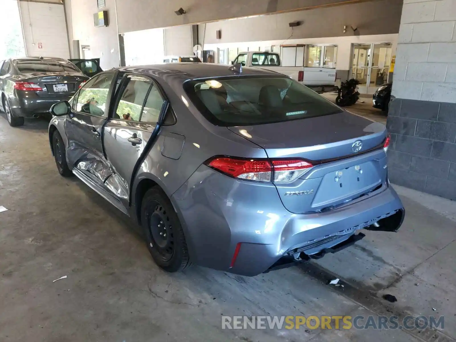
[(166, 56), (192, 56), (192, 26), (173, 26), (165, 29)]

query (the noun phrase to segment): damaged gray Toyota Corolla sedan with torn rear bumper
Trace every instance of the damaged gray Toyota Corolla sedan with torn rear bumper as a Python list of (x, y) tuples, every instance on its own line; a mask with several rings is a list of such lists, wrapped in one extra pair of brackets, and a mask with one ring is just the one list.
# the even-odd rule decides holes
[(278, 73), (117, 68), (51, 112), (58, 171), (137, 221), (170, 272), (194, 263), (257, 275), (404, 219), (385, 127)]

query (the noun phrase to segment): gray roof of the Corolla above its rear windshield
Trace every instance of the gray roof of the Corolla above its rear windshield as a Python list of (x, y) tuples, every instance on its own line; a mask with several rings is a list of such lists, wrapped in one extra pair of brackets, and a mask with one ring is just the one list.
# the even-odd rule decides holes
[[(229, 70), (231, 65), (213, 63), (163, 63), (155, 65), (141, 65), (135, 67), (115, 68), (121, 72), (143, 73), (156, 75), (163, 78), (165, 75), (173, 75), (184, 80), (212, 77), (237, 76), (238, 73)], [(277, 76), (278, 73), (256, 67), (242, 67), (241, 75)], [(286, 77), (285, 75), (282, 75)]]

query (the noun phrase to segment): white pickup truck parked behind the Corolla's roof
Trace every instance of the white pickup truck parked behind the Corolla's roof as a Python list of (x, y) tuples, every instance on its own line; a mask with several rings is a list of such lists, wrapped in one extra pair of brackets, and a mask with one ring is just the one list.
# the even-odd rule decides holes
[[(304, 59), (304, 56), (302, 56)], [(246, 67), (260, 67), (290, 76), (317, 93), (336, 91), (336, 69), (329, 67), (283, 66), (280, 55), (275, 52), (240, 52), (231, 64), (241, 63)], [(299, 63), (299, 62), (298, 62)], [(294, 61), (296, 65), (296, 61)], [(304, 60), (301, 64), (304, 64)]]

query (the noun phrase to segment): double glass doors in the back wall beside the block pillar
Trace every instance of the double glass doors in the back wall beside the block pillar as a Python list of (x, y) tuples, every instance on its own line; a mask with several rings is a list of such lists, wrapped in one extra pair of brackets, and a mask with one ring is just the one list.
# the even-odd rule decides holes
[(351, 76), (360, 82), (360, 93), (373, 94), (388, 82), (391, 46), (391, 43), (353, 44)]

